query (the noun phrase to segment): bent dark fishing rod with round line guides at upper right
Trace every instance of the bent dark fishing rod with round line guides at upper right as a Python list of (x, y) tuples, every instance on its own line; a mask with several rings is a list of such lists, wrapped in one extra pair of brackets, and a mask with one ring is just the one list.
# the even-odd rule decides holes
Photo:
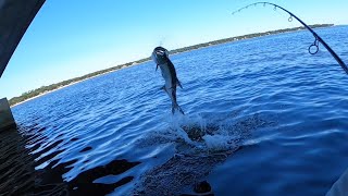
[[(285, 11), (286, 13), (290, 14), (290, 17), (288, 19), (289, 22), (293, 21), (293, 17), (295, 17), (298, 22), (300, 22), (310, 33), (313, 34), (314, 36), (314, 42), (312, 45), (309, 46), (308, 48), (308, 52), (310, 54), (315, 54), (318, 51), (319, 51), (319, 42), (321, 42), (326, 49), (327, 51), (335, 58), (335, 60), (338, 62), (338, 64), (341, 66), (341, 69), (344, 69), (344, 71), (346, 72), (346, 74), (348, 74), (348, 66), (345, 64), (345, 62), (336, 54), (336, 52), (330, 48), (330, 46), (311, 28), (309, 27), (302, 20), (300, 20), (298, 16), (296, 16), (295, 14), (293, 14), (291, 12), (289, 12), (288, 10), (277, 5), (277, 4), (274, 4), (274, 3), (270, 3), (270, 2), (256, 2), (256, 3), (251, 3), (251, 4), (248, 4), (246, 7), (243, 7), (240, 8), (239, 10), (237, 11), (234, 11), (232, 14), (234, 15), (235, 13), (237, 12), (240, 12), (243, 10), (246, 10), (248, 9), (249, 7), (252, 7), (252, 5), (258, 5), (258, 4), (263, 4), (263, 7), (265, 7), (266, 4), (269, 5), (273, 5), (274, 9), (273, 10), (276, 10), (277, 8)], [(313, 51), (314, 49), (314, 51)]]

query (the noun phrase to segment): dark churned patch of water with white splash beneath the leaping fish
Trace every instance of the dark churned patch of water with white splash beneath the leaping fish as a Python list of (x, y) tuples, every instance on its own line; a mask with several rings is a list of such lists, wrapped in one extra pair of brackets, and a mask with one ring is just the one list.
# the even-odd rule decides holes
[(213, 195), (213, 187), (206, 181), (213, 168), (243, 149), (252, 131), (274, 125), (260, 114), (236, 120), (237, 114), (222, 119), (203, 117), (198, 121), (188, 118), (194, 123), (172, 124), (169, 131), (141, 140), (139, 144), (144, 146), (174, 143), (175, 154), (163, 164), (142, 174), (135, 194)]

